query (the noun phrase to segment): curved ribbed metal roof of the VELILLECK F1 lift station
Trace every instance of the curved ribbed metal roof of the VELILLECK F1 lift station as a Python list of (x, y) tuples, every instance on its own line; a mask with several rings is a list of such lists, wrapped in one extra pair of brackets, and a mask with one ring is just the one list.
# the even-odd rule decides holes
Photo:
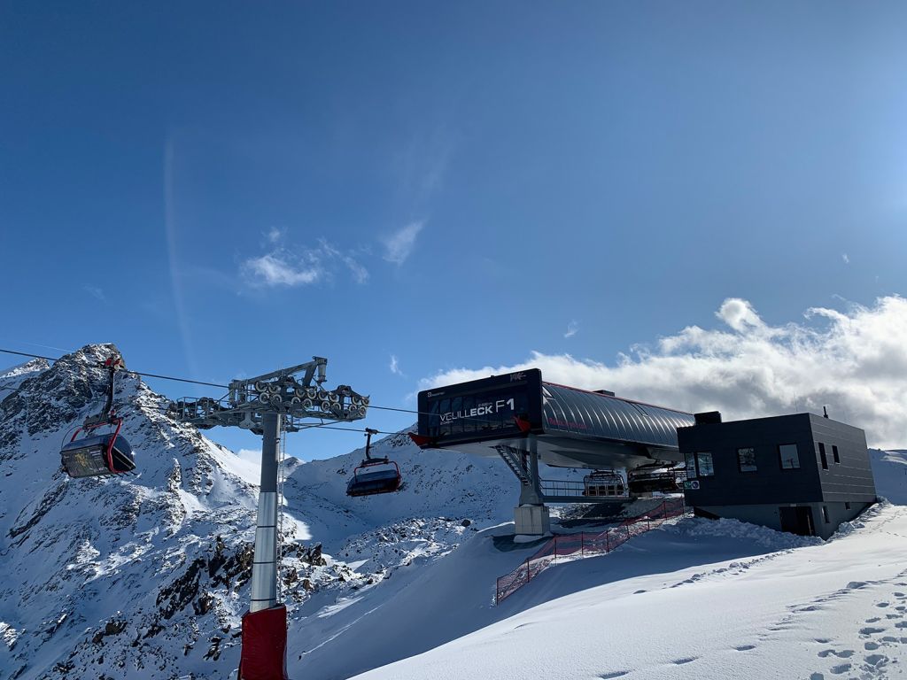
[(649, 403), (542, 383), (542, 427), (621, 442), (677, 448), (678, 427), (695, 423), (692, 413)]

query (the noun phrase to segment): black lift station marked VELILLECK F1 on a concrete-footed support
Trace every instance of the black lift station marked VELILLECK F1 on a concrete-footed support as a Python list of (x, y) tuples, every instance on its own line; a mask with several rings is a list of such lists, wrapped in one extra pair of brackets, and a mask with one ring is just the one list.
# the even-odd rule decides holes
[[(520, 481), (514, 510), (516, 533), (549, 530), (545, 503), (609, 502), (602, 492), (607, 473), (584, 481), (549, 481), (539, 463), (593, 471), (628, 470), (655, 461), (683, 460), (678, 427), (695, 423), (692, 413), (547, 383), (539, 369), (495, 375), (419, 393), (418, 432), (423, 449), (452, 449), (500, 457)], [(587, 478), (588, 479), (588, 478)]]

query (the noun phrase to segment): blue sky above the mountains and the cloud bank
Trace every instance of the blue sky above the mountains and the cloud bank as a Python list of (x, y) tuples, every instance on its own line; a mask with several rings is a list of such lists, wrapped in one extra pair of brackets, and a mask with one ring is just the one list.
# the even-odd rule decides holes
[[(114, 342), (137, 370), (218, 383), (324, 355), (329, 384), (397, 407), (460, 369), (541, 357), (561, 375), (570, 355), (629, 361), (623, 393), (692, 408), (726, 403), (714, 372), (673, 395), (670, 376), (640, 378), (651, 352), (711, 351), (665, 348), (688, 326), (902, 320), (900, 3), (4, 2), (0, 17), (5, 347)], [(773, 384), (811, 380), (785, 370)]]

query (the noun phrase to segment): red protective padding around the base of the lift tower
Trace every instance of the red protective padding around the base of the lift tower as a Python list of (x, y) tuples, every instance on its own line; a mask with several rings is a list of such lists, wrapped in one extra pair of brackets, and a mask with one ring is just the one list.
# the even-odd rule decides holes
[(288, 680), (287, 607), (278, 605), (242, 616), (240, 680)]

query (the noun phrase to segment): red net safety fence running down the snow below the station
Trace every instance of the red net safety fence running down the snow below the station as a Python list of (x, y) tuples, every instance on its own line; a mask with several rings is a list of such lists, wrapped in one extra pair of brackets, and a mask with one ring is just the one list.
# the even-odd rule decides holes
[(655, 529), (665, 520), (684, 514), (684, 500), (665, 500), (654, 510), (641, 517), (633, 517), (600, 533), (582, 531), (575, 534), (558, 534), (549, 539), (532, 557), (498, 578), (494, 601), (500, 603), (517, 590), (551, 567), (560, 558), (583, 558), (601, 555), (619, 548), (629, 539)]

